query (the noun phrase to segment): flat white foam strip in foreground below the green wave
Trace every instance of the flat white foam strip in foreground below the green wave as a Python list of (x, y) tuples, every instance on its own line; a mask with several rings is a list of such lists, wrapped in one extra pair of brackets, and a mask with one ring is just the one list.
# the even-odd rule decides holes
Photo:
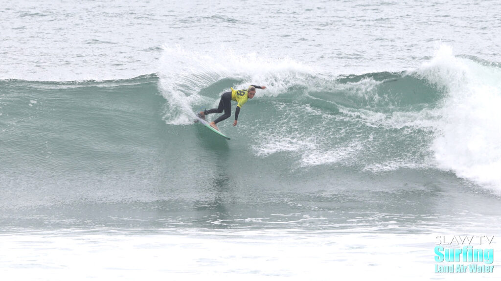
[[(386, 275), (387, 280), (471, 280), (499, 276), (496, 270), (435, 273), (436, 233), (357, 230), (193, 229), (148, 234), (73, 229), (2, 235), (0, 268), (9, 280), (326, 280), (333, 276), (363, 280), (375, 275)], [(495, 244), (492, 247), (498, 249)]]

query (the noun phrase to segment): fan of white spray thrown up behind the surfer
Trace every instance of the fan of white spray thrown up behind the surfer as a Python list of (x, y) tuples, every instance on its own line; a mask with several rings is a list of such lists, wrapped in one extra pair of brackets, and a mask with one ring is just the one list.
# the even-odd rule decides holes
[(313, 73), (311, 67), (289, 58), (240, 54), (224, 46), (212, 50), (164, 46), (158, 70), (159, 86), (168, 102), (164, 120), (173, 125), (190, 124), (192, 112), (197, 110), (193, 106), (216, 106), (219, 95), (207, 98), (199, 92), (221, 79), (241, 81), (233, 85), (235, 89), (264, 85), (267, 89), (260, 96), (277, 96)]

